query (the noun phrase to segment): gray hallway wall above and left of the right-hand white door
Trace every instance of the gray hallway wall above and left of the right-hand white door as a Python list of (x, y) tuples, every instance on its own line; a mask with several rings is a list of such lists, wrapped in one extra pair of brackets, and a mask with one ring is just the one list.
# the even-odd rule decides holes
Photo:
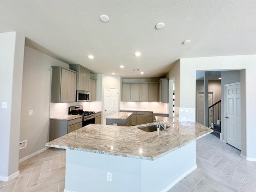
[[(224, 96), (224, 89), (226, 84), (230, 84), (230, 83), (235, 83), (235, 82), (240, 82), (240, 70), (236, 70), (236, 71), (222, 71), (221, 72), (221, 100), (222, 100), (222, 105), (221, 105), (221, 119), (222, 119), (222, 126), (221, 126), (221, 132), (223, 134), (223, 140), (225, 140), (225, 132), (224, 132), (224, 120), (225, 120), (225, 105), (224, 105), (224, 100), (225, 100), (225, 96)], [(245, 142), (243, 142), (245, 143)]]

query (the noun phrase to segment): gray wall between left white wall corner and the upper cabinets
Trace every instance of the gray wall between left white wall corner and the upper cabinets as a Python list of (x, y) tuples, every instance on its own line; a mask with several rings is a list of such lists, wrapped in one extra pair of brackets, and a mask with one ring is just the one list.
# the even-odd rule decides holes
[[(20, 150), (20, 158), (45, 148), (49, 135), (51, 66), (68, 64), (25, 46), (22, 84), (20, 141), (27, 147)], [(33, 115), (28, 111), (33, 110)]]

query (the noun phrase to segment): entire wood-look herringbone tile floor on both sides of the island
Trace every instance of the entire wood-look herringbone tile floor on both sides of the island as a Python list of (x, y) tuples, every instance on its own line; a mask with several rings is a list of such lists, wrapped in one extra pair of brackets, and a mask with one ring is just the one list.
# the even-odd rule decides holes
[[(49, 148), (19, 164), (20, 175), (0, 192), (63, 192), (66, 151)], [(256, 162), (208, 134), (196, 140), (197, 169), (168, 192), (256, 192)]]

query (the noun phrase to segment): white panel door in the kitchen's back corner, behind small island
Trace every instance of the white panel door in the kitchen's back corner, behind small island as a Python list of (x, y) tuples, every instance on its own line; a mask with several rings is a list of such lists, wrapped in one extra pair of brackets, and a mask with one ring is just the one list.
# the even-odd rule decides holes
[(105, 117), (118, 112), (118, 98), (118, 88), (104, 88), (104, 124)]

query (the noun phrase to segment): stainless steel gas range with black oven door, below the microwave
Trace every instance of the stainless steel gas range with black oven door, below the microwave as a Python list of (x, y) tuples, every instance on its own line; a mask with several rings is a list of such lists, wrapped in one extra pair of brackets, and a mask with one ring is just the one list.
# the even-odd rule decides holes
[(84, 111), (84, 107), (82, 105), (68, 107), (68, 114), (83, 115), (83, 126), (86, 126), (88, 124), (95, 124), (95, 112)]

